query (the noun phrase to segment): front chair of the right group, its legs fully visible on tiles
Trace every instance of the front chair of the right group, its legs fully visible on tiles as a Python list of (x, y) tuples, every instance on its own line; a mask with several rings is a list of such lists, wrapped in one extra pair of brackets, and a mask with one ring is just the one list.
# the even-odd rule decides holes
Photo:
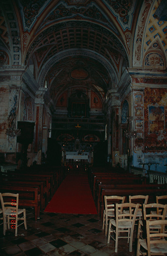
[[(128, 238), (129, 251), (132, 251), (133, 232), (136, 220), (139, 203), (116, 203), (116, 218), (109, 220), (109, 230), (107, 242), (110, 242), (110, 237), (115, 240), (115, 252), (118, 251), (118, 238)], [(115, 234), (115, 236), (111, 235)], [(126, 232), (126, 236), (121, 236), (120, 233)]]

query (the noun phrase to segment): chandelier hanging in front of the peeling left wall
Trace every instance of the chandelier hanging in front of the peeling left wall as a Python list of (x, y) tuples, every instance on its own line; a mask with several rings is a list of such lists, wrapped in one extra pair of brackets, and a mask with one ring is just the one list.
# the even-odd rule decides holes
[(6, 129), (6, 135), (9, 137), (16, 137), (21, 135), (21, 130), (20, 129), (15, 129), (15, 114), (10, 113), (8, 116), (8, 128)]

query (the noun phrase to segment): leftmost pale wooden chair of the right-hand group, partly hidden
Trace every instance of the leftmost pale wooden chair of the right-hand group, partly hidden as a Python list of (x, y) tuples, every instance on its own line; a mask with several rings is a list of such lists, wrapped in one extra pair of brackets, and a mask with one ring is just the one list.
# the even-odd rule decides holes
[(115, 204), (123, 203), (125, 201), (125, 196), (117, 196), (117, 195), (105, 195), (105, 209), (103, 211), (103, 229), (105, 227), (105, 235), (107, 236), (108, 231), (108, 221), (109, 219), (115, 218)]

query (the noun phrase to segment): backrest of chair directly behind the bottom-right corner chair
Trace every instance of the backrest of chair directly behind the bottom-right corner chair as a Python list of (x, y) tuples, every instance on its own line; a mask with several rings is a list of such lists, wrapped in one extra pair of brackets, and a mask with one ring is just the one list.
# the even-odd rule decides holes
[(167, 204), (148, 203), (143, 204), (143, 218), (147, 219), (165, 219), (167, 212)]

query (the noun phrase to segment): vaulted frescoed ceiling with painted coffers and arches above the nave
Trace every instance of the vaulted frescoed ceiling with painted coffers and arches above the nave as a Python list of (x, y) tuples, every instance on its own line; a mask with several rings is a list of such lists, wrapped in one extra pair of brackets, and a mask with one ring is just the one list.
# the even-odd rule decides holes
[(0, 64), (31, 66), (52, 93), (77, 84), (70, 74), (81, 60), (88, 77), (78, 77), (80, 86), (106, 94), (156, 37), (167, 52), (167, 21), (155, 15), (163, 1), (1, 0)]

